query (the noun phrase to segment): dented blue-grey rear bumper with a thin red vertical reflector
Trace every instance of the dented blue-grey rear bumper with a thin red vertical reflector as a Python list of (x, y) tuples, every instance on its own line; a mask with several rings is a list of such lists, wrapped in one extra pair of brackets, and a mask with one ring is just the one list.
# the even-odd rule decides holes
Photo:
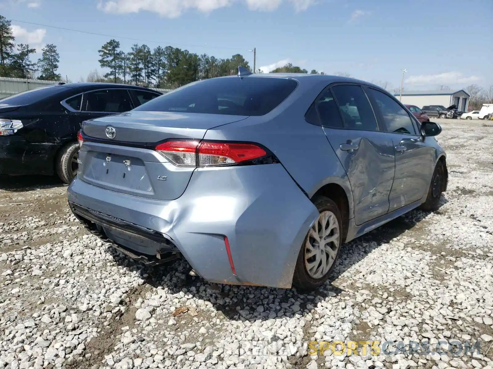
[[(76, 179), (69, 187), (69, 201), (124, 219), (125, 226), (165, 235), (208, 281), (279, 288), (291, 286), (301, 245), (318, 216), (281, 164), (199, 168), (184, 194), (173, 201), (138, 198)], [(115, 228), (106, 235), (118, 245), (145, 249), (148, 255), (159, 247), (125, 239), (118, 233), (119, 223)]]

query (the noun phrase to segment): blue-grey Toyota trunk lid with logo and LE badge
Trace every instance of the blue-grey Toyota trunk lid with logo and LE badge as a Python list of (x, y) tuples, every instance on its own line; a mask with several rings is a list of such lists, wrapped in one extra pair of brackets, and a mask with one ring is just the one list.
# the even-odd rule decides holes
[[(129, 195), (175, 200), (185, 191), (195, 168), (175, 166), (154, 150), (157, 143), (201, 140), (210, 128), (246, 118), (132, 111), (86, 121), (78, 176), (89, 184)], [(112, 129), (107, 131), (108, 127)]]

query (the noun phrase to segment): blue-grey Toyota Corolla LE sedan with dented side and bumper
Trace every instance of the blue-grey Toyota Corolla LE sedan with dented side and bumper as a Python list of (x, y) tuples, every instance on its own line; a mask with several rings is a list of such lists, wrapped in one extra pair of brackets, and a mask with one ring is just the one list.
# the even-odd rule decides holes
[(194, 82), (79, 132), (73, 214), (143, 263), (211, 282), (314, 289), (341, 245), (447, 188), (436, 123), (351, 78)]

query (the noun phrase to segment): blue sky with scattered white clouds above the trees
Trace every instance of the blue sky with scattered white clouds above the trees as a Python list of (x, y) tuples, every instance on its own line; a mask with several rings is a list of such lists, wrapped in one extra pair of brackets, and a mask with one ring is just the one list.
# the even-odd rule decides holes
[[(228, 58), (257, 68), (292, 62), (404, 88), (493, 84), (492, 0), (1, 0), (18, 42), (54, 43), (59, 72), (77, 82), (97, 68), (103, 33)], [(33, 22), (38, 26), (24, 22)], [(130, 51), (136, 41), (118, 38)], [(37, 60), (39, 55), (34, 59)]]

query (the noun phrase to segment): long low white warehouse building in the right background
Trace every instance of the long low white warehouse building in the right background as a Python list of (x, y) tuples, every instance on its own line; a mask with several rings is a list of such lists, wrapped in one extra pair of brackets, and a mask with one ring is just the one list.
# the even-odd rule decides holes
[[(395, 93), (399, 98), (400, 93)], [(448, 108), (457, 105), (459, 111), (466, 112), (471, 97), (464, 90), (437, 90), (437, 91), (403, 91), (401, 102), (423, 108), (425, 105), (443, 105)]]

